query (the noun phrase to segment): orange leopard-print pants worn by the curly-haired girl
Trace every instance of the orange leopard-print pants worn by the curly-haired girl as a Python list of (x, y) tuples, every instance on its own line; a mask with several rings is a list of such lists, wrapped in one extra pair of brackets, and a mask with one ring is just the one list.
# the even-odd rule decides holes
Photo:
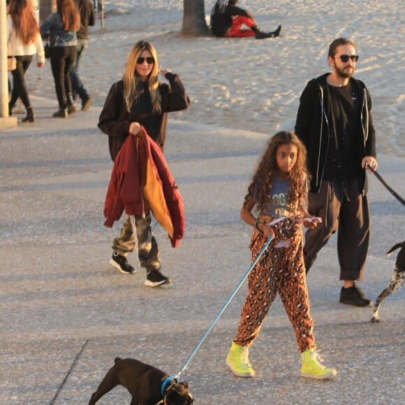
[[(270, 216), (260, 216), (270, 222)], [(302, 253), (302, 226), (293, 219), (283, 219), (276, 225), (275, 237), (262, 257), (251, 270), (248, 293), (242, 307), (240, 324), (233, 341), (240, 346), (250, 346), (258, 337), (277, 293), (281, 297), (288, 318), (294, 327), (299, 351), (315, 348), (314, 322), (309, 313), (309, 297)], [(277, 248), (281, 240), (289, 240), (290, 247)], [(266, 240), (253, 230), (251, 237), (252, 261), (258, 256)]]

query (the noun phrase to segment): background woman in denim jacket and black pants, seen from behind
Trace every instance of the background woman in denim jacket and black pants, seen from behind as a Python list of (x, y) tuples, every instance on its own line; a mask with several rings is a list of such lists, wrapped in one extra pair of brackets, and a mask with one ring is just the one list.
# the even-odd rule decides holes
[(50, 62), (59, 110), (53, 117), (66, 118), (75, 112), (72, 98), (71, 68), (76, 60), (80, 14), (73, 0), (57, 0), (57, 11), (40, 27), (43, 38), (50, 38)]

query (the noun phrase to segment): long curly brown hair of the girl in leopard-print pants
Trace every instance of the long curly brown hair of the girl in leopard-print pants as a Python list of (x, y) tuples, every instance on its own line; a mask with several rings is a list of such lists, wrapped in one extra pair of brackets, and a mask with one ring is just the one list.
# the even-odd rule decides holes
[(267, 148), (261, 157), (256, 171), (254, 172), (251, 184), (244, 197), (244, 207), (249, 198), (256, 198), (253, 208), (259, 214), (268, 214), (270, 203), (270, 190), (272, 189), (272, 180), (277, 172), (277, 149), (280, 145), (293, 144), (297, 147), (297, 161), (290, 173), (290, 186), (288, 189), (288, 206), (290, 212), (296, 212), (307, 202), (308, 182), (310, 179), (307, 168), (307, 148), (295, 133), (280, 131), (270, 138), (267, 142)]

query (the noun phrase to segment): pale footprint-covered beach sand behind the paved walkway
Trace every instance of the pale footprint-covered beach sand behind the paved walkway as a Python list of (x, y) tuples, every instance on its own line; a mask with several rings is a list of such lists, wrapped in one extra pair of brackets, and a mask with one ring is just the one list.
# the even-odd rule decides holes
[[(213, 4), (205, 1), (207, 21)], [(345, 36), (355, 41), (360, 55), (355, 77), (371, 93), (378, 152), (405, 156), (401, 4), (240, 1), (263, 30), (283, 25), (280, 38), (255, 40), (180, 36), (182, 0), (105, 1), (104, 28), (100, 19), (91, 27), (80, 73), (94, 105), (103, 105), (111, 84), (121, 78), (133, 43), (146, 39), (155, 45), (159, 64), (179, 74), (191, 98), (191, 108), (172, 119), (272, 135), (293, 130), (302, 90), (311, 78), (330, 70), (327, 48), (334, 38)], [(40, 70), (31, 66), (27, 81), (31, 94), (54, 97), (57, 106), (48, 62)]]

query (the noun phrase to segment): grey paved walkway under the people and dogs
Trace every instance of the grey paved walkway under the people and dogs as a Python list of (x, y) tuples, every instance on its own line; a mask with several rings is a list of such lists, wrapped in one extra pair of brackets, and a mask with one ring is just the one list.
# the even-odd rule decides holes
[[(53, 119), (54, 101), (32, 98), (36, 123), (0, 131), (0, 404), (86, 404), (116, 356), (178, 373), (249, 267), (250, 229), (239, 211), (268, 136), (169, 121), (165, 155), (184, 198), (186, 236), (172, 249), (155, 227), (173, 282), (152, 289), (143, 286), (144, 270), (124, 276), (108, 264), (120, 224), (103, 227), (112, 163), (96, 126), (100, 108)], [(379, 156), (379, 163), (404, 196), (404, 159)], [(375, 300), (394, 268), (395, 256), (384, 253), (404, 240), (405, 209), (374, 176), (369, 199), (362, 288)], [(308, 283), (318, 348), (337, 378), (300, 378), (279, 299), (251, 348), (257, 377), (230, 374), (225, 357), (242, 286), (182, 374), (196, 404), (403, 403), (405, 290), (385, 302), (382, 323), (371, 324), (370, 309), (339, 304), (337, 278), (334, 237)], [(129, 402), (115, 388), (99, 403)]]

